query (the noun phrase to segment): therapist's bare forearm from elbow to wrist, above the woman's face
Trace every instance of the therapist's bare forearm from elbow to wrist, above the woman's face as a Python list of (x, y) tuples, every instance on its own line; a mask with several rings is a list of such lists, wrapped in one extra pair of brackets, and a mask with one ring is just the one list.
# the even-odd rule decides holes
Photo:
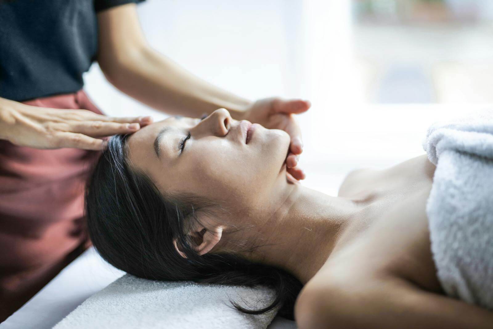
[(199, 117), (225, 108), (233, 118), (241, 119), (251, 104), (189, 73), (150, 47), (142, 47), (103, 72), (125, 94), (169, 114)]

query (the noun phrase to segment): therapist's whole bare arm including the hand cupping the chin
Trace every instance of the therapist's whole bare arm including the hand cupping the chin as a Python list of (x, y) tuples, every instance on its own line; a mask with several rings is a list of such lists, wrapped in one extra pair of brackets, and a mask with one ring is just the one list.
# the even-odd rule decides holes
[[(106, 78), (116, 88), (169, 114), (200, 117), (225, 108), (234, 119), (246, 119), (268, 129), (282, 129), (291, 139), (285, 160), (288, 179), (305, 178), (305, 173), (297, 166), (303, 142), (293, 114), (307, 111), (310, 102), (276, 97), (251, 102), (187, 72), (149, 46), (134, 3), (98, 13), (98, 24), (97, 59)], [(200, 53), (200, 49), (197, 52)]]

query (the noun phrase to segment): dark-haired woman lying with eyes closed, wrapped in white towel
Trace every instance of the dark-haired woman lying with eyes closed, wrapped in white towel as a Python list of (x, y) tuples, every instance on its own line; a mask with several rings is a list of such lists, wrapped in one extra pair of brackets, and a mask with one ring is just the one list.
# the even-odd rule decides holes
[(225, 109), (170, 117), (110, 139), (86, 193), (90, 236), (138, 277), (268, 286), (268, 307), (235, 307), (279, 307), (300, 329), (493, 328), (492, 122), (471, 132), (491, 142), (483, 154), (430, 128), (437, 167), (423, 155), (354, 171), (333, 197), (286, 180), (284, 131)]

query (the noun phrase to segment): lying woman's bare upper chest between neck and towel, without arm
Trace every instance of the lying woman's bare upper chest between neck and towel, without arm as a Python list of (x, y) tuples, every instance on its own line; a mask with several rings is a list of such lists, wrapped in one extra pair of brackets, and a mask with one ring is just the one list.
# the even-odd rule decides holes
[(318, 274), (394, 275), (440, 292), (430, 251), (426, 200), (434, 166), (418, 157), (384, 171), (359, 171), (341, 185), (340, 196), (370, 200), (368, 209), (341, 236)]

